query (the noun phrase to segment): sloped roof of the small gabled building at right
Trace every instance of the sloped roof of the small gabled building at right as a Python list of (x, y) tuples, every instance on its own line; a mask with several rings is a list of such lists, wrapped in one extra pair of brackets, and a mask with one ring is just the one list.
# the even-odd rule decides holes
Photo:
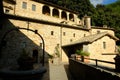
[(89, 35), (89, 36), (83, 37), (83, 38), (81, 38), (81, 39), (79, 39), (79, 40), (77, 40), (75, 42), (72, 42), (72, 43), (67, 44), (67, 45), (63, 45), (63, 47), (76, 45), (76, 44), (83, 44), (83, 43), (92, 43), (92, 42), (94, 42), (94, 41), (96, 41), (96, 40), (98, 40), (98, 39), (100, 39), (100, 38), (102, 38), (104, 36), (109, 36), (109, 37), (111, 37), (112, 39), (114, 39), (116, 41), (119, 40), (117, 37), (115, 37), (115, 36), (113, 36), (113, 35), (111, 35), (111, 34), (109, 34), (107, 32), (101, 32), (99, 34), (94, 34), (94, 35)]

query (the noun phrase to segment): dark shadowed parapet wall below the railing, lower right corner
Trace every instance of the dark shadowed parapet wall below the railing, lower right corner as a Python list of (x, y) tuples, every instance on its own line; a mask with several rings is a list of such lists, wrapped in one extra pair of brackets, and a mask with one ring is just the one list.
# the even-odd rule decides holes
[(69, 69), (75, 80), (120, 80), (119, 73), (95, 68), (73, 59), (69, 59)]

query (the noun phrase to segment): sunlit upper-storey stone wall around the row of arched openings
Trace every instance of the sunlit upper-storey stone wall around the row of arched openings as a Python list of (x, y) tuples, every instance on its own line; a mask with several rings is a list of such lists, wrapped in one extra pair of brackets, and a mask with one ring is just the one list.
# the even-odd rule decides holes
[[(26, 2), (26, 9), (23, 9), (23, 2)], [(55, 8), (54, 6), (51, 5), (46, 5), (44, 3), (39, 3), (36, 1), (32, 1), (32, 0), (16, 0), (16, 4), (12, 5), (9, 3), (6, 3), (4, 1), (4, 5), (6, 5), (7, 7), (11, 7), (11, 9), (9, 9), (9, 12), (7, 14), (13, 14), (13, 15), (17, 15), (17, 16), (24, 16), (24, 17), (30, 17), (30, 18), (34, 18), (34, 19), (40, 19), (40, 20), (46, 20), (46, 21), (51, 21), (51, 22), (56, 22), (56, 23), (61, 23), (63, 21), (66, 21), (67, 24), (73, 25), (73, 24), (80, 24), (80, 22), (82, 22), (80, 19), (77, 18), (77, 14), (74, 12), (69, 12), (67, 10), (62, 10), (60, 8)], [(32, 10), (32, 5), (35, 5), (35, 11)], [(46, 15), (43, 14), (43, 6), (48, 6), (48, 8), (50, 9), (50, 15)], [(59, 11), (58, 14), (58, 18), (57, 17), (53, 17), (53, 9), (57, 9)], [(4, 7), (4, 12), (6, 13), (6, 8)], [(67, 20), (62, 19), (61, 15), (62, 15), (62, 11), (65, 11), (66, 15), (67, 15)], [(72, 14), (74, 16), (74, 21), (69, 20), (69, 14)]]

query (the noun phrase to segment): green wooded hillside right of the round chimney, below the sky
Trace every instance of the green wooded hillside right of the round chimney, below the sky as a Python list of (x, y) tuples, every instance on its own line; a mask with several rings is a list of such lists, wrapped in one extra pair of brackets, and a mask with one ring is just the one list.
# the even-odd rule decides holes
[(92, 25), (115, 29), (115, 35), (120, 38), (120, 0), (109, 5), (97, 5), (96, 13), (92, 15)]

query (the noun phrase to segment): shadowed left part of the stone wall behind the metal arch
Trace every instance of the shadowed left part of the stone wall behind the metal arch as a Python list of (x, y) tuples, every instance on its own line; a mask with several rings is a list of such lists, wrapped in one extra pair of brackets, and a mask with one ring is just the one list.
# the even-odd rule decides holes
[[(23, 23), (24, 24), (24, 23)], [(4, 38), (5, 43), (2, 45), (1, 48), (1, 58), (0, 58), (0, 67), (8, 67), (9, 65), (14, 66), (17, 65), (17, 58), (22, 54), (23, 48), (29, 53), (30, 56), (32, 56), (33, 50), (38, 50), (38, 57), (40, 62), (40, 56), (41, 56), (41, 50), (42, 48), (37, 45), (35, 42), (33, 42), (28, 36), (23, 34), (21, 31), (10, 31), (10, 29), (15, 28), (16, 26), (11, 23), (10, 20), (5, 19), (3, 28), (1, 29), (1, 38), (4, 34), (7, 33), (6, 37)], [(29, 32), (24, 31), (23, 32)], [(29, 32), (30, 33), (30, 32)], [(36, 40), (39, 38), (33, 34), (30, 33), (32, 37), (36, 37)], [(0, 38), (0, 39), (1, 39)], [(34, 41), (36, 41), (34, 40)], [(1, 41), (1, 40), (0, 40)], [(36, 41), (37, 42), (37, 41)], [(3, 42), (0, 42), (0, 44)], [(1, 46), (1, 45), (0, 45)]]

